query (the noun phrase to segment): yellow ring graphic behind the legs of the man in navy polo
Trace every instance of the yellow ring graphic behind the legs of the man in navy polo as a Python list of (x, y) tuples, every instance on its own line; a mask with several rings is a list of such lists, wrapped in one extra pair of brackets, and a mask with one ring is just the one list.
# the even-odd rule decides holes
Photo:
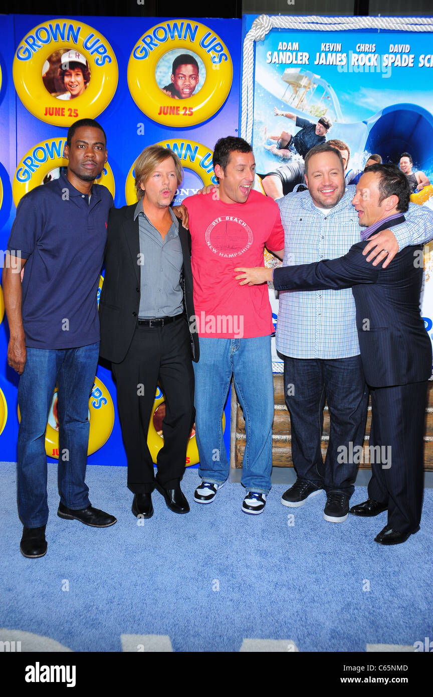
[[(21, 420), (18, 407), (18, 419)], [(95, 377), (93, 390), (88, 400), (88, 420), (90, 434), (88, 437), (87, 454), (91, 455), (106, 443), (111, 435), (114, 424), (114, 407), (110, 393), (104, 383)], [(58, 418), (57, 418), (57, 387), (49, 408), (47, 430), (45, 431), (45, 452), (48, 457), (62, 457), (58, 452)]]

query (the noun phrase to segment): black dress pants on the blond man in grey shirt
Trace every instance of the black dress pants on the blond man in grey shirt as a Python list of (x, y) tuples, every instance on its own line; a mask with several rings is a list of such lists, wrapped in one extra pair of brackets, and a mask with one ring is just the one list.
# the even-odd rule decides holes
[(127, 455), (127, 487), (134, 493), (155, 489), (155, 474), (147, 438), (157, 383), (166, 402), (162, 422), (164, 446), (157, 455), (156, 481), (177, 487), (185, 470), (187, 444), (194, 424), (194, 371), (187, 321), (163, 327), (137, 325), (127, 355), (111, 369)]

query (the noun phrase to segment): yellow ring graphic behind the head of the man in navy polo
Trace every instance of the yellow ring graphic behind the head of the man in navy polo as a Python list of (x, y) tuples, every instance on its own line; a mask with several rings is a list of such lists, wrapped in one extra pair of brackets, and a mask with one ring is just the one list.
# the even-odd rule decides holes
[[(12, 182), (12, 195), (15, 206), (24, 194), (43, 183), (45, 177), (58, 178), (60, 167), (68, 167), (68, 160), (63, 157), (66, 138), (50, 138), (33, 146), (20, 160)], [(106, 162), (97, 184), (107, 187), (114, 198), (114, 177), (111, 167)]]

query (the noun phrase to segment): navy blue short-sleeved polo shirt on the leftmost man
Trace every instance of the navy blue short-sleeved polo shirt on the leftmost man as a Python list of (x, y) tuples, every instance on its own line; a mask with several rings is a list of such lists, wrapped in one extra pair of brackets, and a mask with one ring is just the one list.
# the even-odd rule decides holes
[(8, 252), (26, 259), (26, 346), (75, 348), (100, 340), (97, 288), (113, 197), (93, 184), (90, 202), (65, 174), (22, 197)]

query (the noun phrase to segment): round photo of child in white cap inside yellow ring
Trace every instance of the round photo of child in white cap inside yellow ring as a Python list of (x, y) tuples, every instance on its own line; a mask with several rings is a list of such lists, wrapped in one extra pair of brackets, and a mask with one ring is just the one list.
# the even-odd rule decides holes
[(75, 49), (52, 53), (42, 67), (45, 89), (61, 100), (84, 94), (90, 82), (90, 68), (85, 56)]

